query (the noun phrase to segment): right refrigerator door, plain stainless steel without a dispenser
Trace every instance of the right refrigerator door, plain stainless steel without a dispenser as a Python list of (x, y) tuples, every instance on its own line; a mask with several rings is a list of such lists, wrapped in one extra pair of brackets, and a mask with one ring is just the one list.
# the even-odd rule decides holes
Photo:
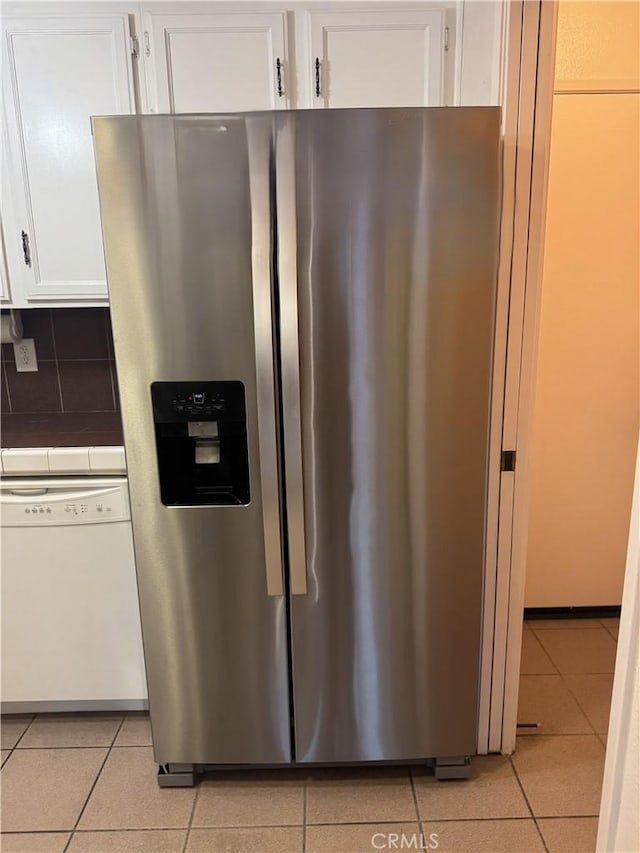
[(473, 753), (499, 110), (277, 121), (296, 760)]

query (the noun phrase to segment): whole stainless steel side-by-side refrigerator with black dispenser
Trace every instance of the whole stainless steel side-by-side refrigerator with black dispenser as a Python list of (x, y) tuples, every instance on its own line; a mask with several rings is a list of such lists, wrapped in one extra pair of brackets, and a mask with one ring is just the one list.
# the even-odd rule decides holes
[(161, 784), (468, 772), (499, 124), (94, 119)]

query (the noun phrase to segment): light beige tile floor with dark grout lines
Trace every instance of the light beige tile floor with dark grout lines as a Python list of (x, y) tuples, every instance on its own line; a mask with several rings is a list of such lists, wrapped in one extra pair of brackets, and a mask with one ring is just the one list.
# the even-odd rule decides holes
[(525, 624), (519, 721), (538, 726), (520, 729), (512, 757), (475, 758), (468, 782), (436, 782), (419, 767), (314, 769), (216, 773), (161, 790), (144, 714), (5, 717), (2, 851), (359, 853), (409, 842), (588, 853), (616, 632), (611, 619)]

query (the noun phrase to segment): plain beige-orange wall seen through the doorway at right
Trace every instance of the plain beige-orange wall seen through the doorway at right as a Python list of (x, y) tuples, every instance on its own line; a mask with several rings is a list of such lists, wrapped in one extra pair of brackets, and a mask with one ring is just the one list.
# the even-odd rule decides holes
[(527, 607), (622, 596), (638, 434), (639, 12), (559, 6)]

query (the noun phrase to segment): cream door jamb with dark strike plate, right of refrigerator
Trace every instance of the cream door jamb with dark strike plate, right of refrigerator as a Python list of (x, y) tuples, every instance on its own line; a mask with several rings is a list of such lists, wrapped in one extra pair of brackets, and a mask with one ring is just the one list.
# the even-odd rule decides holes
[[(557, 0), (508, 4), (478, 753), (515, 747)], [(515, 471), (501, 471), (502, 450)]]

